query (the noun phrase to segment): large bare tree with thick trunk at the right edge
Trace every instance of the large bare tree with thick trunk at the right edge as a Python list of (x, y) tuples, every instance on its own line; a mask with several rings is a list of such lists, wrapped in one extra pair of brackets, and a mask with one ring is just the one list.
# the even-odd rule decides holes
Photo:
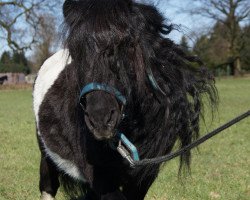
[(188, 10), (222, 23), (227, 28), (225, 39), (228, 42), (228, 59), (234, 60), (234, 74), (240, 73), (240, 50), (242, 49), (240, 23), (250, 19), (249, 0), (193, 0)]

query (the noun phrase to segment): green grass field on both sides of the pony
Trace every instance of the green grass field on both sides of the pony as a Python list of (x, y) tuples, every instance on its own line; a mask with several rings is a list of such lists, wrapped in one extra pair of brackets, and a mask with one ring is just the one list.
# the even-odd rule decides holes
[[(208, 130), (250, 109), (249, 78), (218, 80), (217, 87), (219, 111)], [(147, 200), (250, 199), (250, 118), (192, 152), (191, 175), (179, 179), (178, 158), (168, 162)], [(31, 90), (0, 90), (0, 200), (39, 199), (39, 158)]]

